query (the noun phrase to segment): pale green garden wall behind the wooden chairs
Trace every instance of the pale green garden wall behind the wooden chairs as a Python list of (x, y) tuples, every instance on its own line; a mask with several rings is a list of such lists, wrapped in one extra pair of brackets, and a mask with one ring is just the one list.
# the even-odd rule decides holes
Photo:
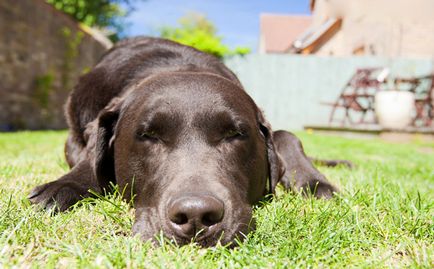
[[(274, 129), (300, 130), (327, 125), (331, 107), (357, 68), (387, 67), (394, 76), (433, 72), (433, 61), (378, 57), (248, 55), (227, 59), (246, 91), (264, 110)], [(339, 113), (338, 117), (341, 116)]]

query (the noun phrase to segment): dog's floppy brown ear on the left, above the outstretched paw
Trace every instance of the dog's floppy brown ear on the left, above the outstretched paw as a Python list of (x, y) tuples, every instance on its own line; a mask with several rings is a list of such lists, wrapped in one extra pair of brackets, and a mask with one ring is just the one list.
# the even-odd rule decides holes
[(102, 189), (107, 189), (110, 182), (116, 183), (113, 155), (120, 107), (121, 100), (116, 98), (98, 114), (93, 167), (95, 177)]

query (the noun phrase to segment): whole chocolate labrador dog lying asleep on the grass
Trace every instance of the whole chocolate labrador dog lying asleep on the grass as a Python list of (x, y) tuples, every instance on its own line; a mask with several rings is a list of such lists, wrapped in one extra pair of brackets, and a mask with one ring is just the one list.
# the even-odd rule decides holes
[(179, 244), (230, 244), (279, 182), (317, 197), (336, 192), (293, 134), (272, 132), (227, 67), (171, 41), (119, 42), (80, 78), (66, 117), (71, 170), (30, 201), (64, 211), (118, 184), (145, 240), (163, 231)]

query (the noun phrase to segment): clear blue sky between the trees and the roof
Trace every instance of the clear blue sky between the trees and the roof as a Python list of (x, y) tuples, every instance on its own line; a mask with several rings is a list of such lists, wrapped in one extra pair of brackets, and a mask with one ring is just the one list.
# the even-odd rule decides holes
[(156, 35), (163, 25), (176, 25), (189, 11), (206, 14), (223, 42), (256, 50), (261, 13), (309, 14), (309, 0), (146, 0), (137, 1), (127, 22), (128, 36)]

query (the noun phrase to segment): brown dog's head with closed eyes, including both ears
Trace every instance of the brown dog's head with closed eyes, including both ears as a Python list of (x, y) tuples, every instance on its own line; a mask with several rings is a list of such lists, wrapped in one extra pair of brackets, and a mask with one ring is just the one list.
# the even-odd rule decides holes
[[(231, 243), (253, 227), (252, 205), (280, 174), (271, 130), (236, 83), (166, 73), (131, 86), (98, 118), (95, 175), (125, 188), (134, 233), (179, 244)], [(132, 189), (131, 189), (132, 187)]]

